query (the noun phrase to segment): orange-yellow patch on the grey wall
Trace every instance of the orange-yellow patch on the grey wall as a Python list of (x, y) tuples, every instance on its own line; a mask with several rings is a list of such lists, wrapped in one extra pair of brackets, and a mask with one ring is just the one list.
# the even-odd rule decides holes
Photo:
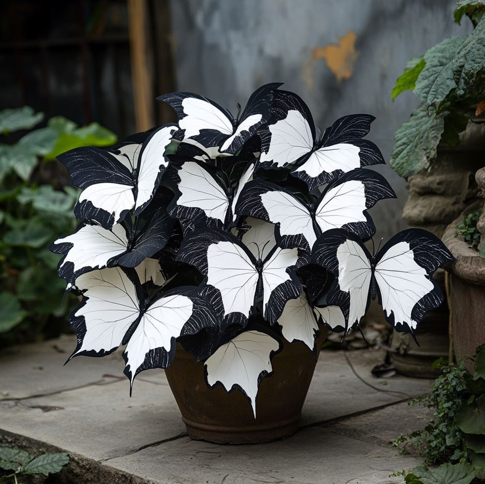
[(350, 79), (354, 65), (359, 57), (355, 49), (355, 32), (349, 30), (343, 37), (338, 38), (338, 44), (329, 44), (325, 47), (315, 47), (312, 51), (313, 61), (325, 59), (328, 68), (333, 72), (337, 81)]

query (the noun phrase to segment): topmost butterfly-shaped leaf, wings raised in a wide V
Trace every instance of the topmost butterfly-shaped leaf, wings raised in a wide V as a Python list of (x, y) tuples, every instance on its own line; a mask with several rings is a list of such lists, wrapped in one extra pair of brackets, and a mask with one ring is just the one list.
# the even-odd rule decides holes
[(191, 92), (172, 92), (157, 98), (172, 106), (179, 118), (184, 139), (191, 138), (205, 148), (220, 147), (221, 153), (235, 154), (270, 117), (274, 91), (281, 84), (265, 84), (253, 92), (237, 119), (210, 99)]

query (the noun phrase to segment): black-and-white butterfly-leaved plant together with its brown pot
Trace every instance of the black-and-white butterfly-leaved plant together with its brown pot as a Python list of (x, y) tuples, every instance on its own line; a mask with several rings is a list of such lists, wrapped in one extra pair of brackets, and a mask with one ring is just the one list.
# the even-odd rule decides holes
[(442, 301), (432, 273), (451, 256), (437, 237), (407, 230), (377, 254), (363, 245), (368, 209), (395, 197), (363, 168), (383, 162), (365, 139), (374, 118), (344, 116), (317, 137), (306, 104), (279, 86), (257, 89), (236, 117), (166, 94), (177, 125), (59, 156), (83, 190), (79, 229), (52, 245), (82, 296), (69, 359), (126, 345), (131, 387), (167, 369), (197, 439), (286, 437), (329, 329), (355, 327), (379, 296), (387, 320), (414, 333)]

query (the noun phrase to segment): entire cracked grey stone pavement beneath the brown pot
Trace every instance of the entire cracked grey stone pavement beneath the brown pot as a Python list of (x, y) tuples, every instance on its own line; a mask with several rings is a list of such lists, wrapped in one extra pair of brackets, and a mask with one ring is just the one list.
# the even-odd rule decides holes
[(130, 398), (119, 352), (63, 366), (74, 347), (63, 336), (4, 351), (0, 442), (19, 435), (153, 483), (374, 484), (401, 482), (389, 475), (418, 464), (390, 441), (425, 425), (429, 414), (407, 401), (430, 380), (383, 384), (370, 373), (380, 350), (322, 351), (293, 437), (221, 446), (190, 440), (162, 370), (140, 375)]

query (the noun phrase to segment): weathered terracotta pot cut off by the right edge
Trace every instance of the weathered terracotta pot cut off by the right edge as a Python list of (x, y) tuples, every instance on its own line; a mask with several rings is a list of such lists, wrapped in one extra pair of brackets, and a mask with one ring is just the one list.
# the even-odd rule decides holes
[(443, 235), (444, 243), (456, 259), (449, 276), (453, 347), (456, 358), (465, 360), (470, 372), (474, 364), (469, 356), (485, 343), (485, 258), (455, 233), (463, 216), (476, 208), (478, 205), (460, 215)]

